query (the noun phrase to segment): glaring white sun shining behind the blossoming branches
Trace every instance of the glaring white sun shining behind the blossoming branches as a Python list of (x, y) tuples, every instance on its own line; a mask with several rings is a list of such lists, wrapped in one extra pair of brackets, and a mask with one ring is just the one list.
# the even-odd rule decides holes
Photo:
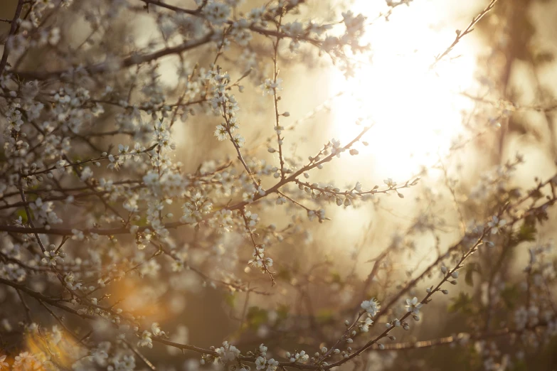
[[(359, 117), (371, 119), (374, 126), (366, 134), (369, 145), (363, 154), (371, 158), (374, 170), (388, 176), (409, 177), (437, 163), (462, 131), (462, 112), (470, 109), (470, 101), (459, 92), (474, 82), (474, 44), (459, 43), (430, 69), (435, 55), (455, 37), (454, 29), (447, 32), (450, 28), (435, 24), (447, 19), (441, 2), (446, 6), (454, 1), (399, 6), (389, 21), (369, 27), (364, 41), (373, 54), (359, 60), (355, 77), (346, 80), (331, 73), (332, 91), (345, 92), (332, 107), (336, 136), (346, 143), (361, 131), (355, 124)], [(354, 12), (372, 18), (380, 5), (384, 9), (382, 1), (358, 0)]]

